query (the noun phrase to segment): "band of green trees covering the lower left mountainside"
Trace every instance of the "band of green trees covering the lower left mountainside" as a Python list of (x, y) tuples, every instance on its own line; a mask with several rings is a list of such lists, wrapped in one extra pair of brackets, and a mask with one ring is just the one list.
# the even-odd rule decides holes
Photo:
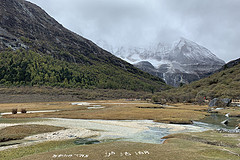
[(130, 73), (115, 65), (80, 65), (41, 56), (32, 50), (0, 52), (0, 83), (3, 86), (44, 85), (77, 88), (108, 88), (153, 91), (164, 82), (139, 70)]

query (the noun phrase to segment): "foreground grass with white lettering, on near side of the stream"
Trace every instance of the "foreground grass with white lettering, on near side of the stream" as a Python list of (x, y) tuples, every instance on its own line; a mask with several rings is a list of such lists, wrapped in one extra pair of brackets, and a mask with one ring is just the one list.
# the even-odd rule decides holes
[[(238, 160), (239, 134), (214, 131), (184, 133), (166, 137), (164, 144), (106, 142), (78, 146), (73, 140), (44, 142), (0, 152), (5, 160), (91, 159), (91, 160)], [(56, 158), (57, 156), (57, 158)], [(64, 156), (71, 156), (64, 157)], [(85, 158), (80, 157), (85, 156)], [(88, 157), (86, 157), (88, 156)]]

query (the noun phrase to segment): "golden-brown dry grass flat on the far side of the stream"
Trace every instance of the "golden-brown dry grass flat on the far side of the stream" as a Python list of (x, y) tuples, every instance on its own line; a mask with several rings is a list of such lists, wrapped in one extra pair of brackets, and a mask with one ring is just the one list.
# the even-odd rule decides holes
[[(73, 106), (69, 102), (58, 103), (29, 103), (18, 104), (27, 110), (47, 110), (60, 109), (64, 111), (54, 113), (34, 113), (6, 115), (7, 118), (33, 118), (33, 117), (55, 117), (73, 119), (105, 119), (105, 120), (154, 120), (164, 123), (189, 124), (192, 120), (204, 118), (207, 114), (207, 106), (197, 106), (190, 104), (175, 104), (173, 107), (159, 107), (158, 104), (147, 103), (145, 101), (125, 101), (125, 100), (104, 100), (88, 101), (104, 106), (104, 109), (89, 110), (86, 106)], [(108, 103), (108, 104), (105, 104)], [(122, 103), (122, 104), (117, 104)], [(136, 103), (136, 104), (133, 104)], [(9, 104), (8, 104), (9, 105)], [(5, 107), (2, 107), (5, 106)], [(9, 106), (0, 105), (2, 110), (7, 110)], [(139, 108), (140, 107), (140, 108)], [(149, 108), (141, 108), (149, 107)]]

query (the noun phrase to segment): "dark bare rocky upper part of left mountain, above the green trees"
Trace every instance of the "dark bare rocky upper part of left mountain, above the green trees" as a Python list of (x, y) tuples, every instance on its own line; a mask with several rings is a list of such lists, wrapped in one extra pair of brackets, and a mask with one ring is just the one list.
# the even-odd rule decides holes
[[(121, 63), (91, 41), (64, 28), (40, 7), (30, 2), (2, 0), (0, 7), (0, 30), (4, 33), (1, 49), (9, 46), (13, 49), (34, 48), (69, 62), (112, 60)], [(63, 52), (62, 55), (59, 54), (60, 51)]]

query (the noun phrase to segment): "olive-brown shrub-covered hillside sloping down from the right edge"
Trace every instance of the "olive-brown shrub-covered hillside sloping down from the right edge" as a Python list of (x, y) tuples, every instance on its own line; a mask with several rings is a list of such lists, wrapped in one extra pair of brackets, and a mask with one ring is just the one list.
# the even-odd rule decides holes
[[(238, 63), (236, 63), (238, 62)], [(232, 65), (235, 63), (235, 65)], [(193, 102), (216, 97), (240, 98), (240, 64), (239, 60), (229, 62), (211, 76), (184, 85), (179, 88), (164, 91), (155, 96), (155, 101), (166, 99), (170, 102)]]

